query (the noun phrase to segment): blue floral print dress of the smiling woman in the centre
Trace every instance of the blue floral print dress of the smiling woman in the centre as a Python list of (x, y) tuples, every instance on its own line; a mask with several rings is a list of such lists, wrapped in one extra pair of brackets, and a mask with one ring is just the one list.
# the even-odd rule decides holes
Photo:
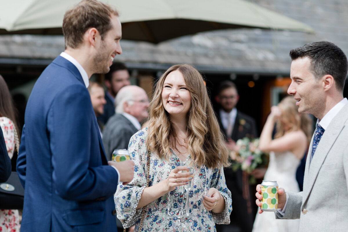
[[(114, 196), (117, 217), (124, 227), (140, 224), (142, 208), (136, 209), (141, 194), (146, 187), (148, 169), (146, 138), (147, 128), (138, 131), (130, 138), (128, 151), (130, 159), (135, 163), (134, 178), (128, 185), (119, 184)], [(190, 156), (188, 157), (188, 159)], [(149, 186), (164, 181), (172, 169), (180, 166), (180, 160), (172, 151), (169, 161), (160, 159), (157, 154), (150, 153)], [(207, 211), (202, 202), (202, 195), (214, 187), (220, 191), (225, 200), (225, 209), (221, 213)], [(216, 231), (215, 223), (229, 224), (232, 211), (231, 192), (226, 187), (223, 168), (207, 168), (196, 166), (195, 177), (189, 190), (190, 213), (195, 215), (188, 220), (185, 214), (186, 192), (183, 186), (177, 186), (174, 191), (149, 203), (145, 208), (141, 231)]]

